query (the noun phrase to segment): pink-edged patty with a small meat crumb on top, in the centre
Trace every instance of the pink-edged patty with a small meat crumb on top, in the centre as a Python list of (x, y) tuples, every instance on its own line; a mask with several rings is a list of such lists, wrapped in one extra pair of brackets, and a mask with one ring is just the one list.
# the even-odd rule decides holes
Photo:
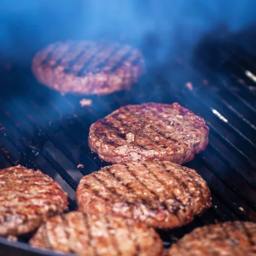
[(208, 145), (209, 128), (178, 103), (122, 106), (90, 126), (91, 150), (108, 163), (167, 160), (183, 164)]

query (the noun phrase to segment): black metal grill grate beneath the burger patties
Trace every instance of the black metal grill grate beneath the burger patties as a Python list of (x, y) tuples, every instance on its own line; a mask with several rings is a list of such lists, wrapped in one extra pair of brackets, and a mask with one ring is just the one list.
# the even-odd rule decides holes
[[(246, 64), (246, 70), (252, 67), (251, 73), (255, 70), (250, 60), (243, 59), (242, 64)], [(228, 63), (226, 67), (230, 67)], [(163, 74), (147, 76), (131, 92), (93, 96), (93, 106), (84, 108), (78, 97), (48, 90), (26, 70), (5, 72), (6, 82), (0, 93), (0, 168), (20, 163), (41, 169), (51, 177), (58, 174), (75, 191), (79, 175), (74, 177), (74, 173), (80, 172), (81, 177), (106, 164), (90, 153), (87, 136), (92, 122), (121, 105), (178, 102), (204, 117), (210, 128), (209, 146), (186, 166), (196, 169), (207, 180), (214, 207), (186, 227), (161, 232), (166, 246), (197, 226), (215, 221), (256, 220), (256, 95), (250, 89), (253, 80), (239, 64), (229, 76), (206, 66), (204, 76), (181, 64), (175, 68), (172, 72), (177, 71), (178, 79), (167, 81)], [(15, 96), (13, 92), (20, 93), (19, 88), (26, 90)], [(47, 143), (61, 157), (51, 153)], [(64, 159), (75, 172), (68, 172)], [(69, 208), (73, 210), (74, 192), (70, 194)], [(0, 239), (0, 245), (9, 255), (15, 250), (19, 250), (19, 255), (39, 255), (38, 250), (25, 244), (13, 246)]]

